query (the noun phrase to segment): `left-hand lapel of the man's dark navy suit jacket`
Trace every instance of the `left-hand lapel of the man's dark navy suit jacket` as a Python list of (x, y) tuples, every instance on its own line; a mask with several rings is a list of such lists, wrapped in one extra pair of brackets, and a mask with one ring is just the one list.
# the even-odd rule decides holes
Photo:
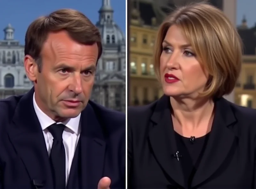
[(44, 135), (33, 108), (32, 88), (21, 97), (12, 123), (8, 128), (10, 140), (24, 163), (31, 183), (52, 187), (52, 176)]

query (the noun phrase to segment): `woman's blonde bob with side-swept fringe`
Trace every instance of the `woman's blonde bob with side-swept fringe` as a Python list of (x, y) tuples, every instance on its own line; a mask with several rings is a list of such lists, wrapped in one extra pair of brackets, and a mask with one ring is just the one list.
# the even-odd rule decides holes
[(161, 24), (156, 37), (154, 68), (160, 80), (162, 43), (168, 29), (178, 26), (191, 44), (197, 59), (209, 73), (201, 96), (230, 94), (239, 77), (243, 45), (236, 28), (222, 11), (206, 3), (195, 3), (173, 11)]

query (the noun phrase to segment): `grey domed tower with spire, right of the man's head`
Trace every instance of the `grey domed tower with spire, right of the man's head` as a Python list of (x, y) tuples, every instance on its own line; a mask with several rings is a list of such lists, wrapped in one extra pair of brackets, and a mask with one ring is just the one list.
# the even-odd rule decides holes
[(113, 110), (125, 112), (125, 36), (113, 20), (110, 0), (102, 0), (96, 26), (102, 37), (103, 52), (97, 65), (91, 99)]

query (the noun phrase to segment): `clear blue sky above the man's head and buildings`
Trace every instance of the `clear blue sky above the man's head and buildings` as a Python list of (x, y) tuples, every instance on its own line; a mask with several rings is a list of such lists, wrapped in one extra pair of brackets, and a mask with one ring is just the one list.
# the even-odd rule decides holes
[[(33, 20), (61, 8), (81, 11), (95, 24), (99, 19), (101, 4), (102, 0), (1, 1), (0, 39), (4, 38), (4, 27), (10, 23), (15, 28), (14, 38), (24, 44), (26, 30)], [(114, 20), (125, 34), (125, 0), (110, 0), (110, 4), (114, 9)]]

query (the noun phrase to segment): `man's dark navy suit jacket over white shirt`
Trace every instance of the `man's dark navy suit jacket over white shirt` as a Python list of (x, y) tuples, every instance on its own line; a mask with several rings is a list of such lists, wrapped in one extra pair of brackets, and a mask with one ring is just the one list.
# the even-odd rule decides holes
[[(33, 108), (33, 92), (0, 101), (2, 189), (53, 187), (42, 128)], [(107, 176), (111, 188), (125, 188), (125, 114), (89, 101), (81, 114), (79, 140), (80, 175), (72, 172), (72, 164), (68, 187), (76, 188), (79, 177), (81, 188), (96, 189), (100, 178)]]

